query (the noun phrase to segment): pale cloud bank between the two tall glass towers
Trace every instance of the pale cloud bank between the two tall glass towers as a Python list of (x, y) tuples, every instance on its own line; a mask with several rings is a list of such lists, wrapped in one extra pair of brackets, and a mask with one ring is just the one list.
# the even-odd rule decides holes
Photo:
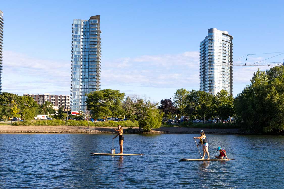
[(101, 73), (102, 88), (108, 88), (113, 83), (157, 88), (198, 88), (199, 52), (105, 61)]

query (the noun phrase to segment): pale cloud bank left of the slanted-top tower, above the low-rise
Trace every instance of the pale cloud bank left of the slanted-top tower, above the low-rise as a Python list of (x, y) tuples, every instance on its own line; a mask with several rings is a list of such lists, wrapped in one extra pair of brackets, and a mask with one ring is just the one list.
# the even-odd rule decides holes
[[(46, 58), (48, 59), (48, 57)], [(2, 91), (70, 94), (70, 61), (52, 61), (3, 52)]]

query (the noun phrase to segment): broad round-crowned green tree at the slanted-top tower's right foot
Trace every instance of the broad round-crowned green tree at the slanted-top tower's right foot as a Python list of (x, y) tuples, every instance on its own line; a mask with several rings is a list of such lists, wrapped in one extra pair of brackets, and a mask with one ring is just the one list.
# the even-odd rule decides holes
[(122, 101), (124, 93), (118, 90), (104, 89), (89, 93), (86, 104), (93, 118), (106, 116), (120, 116), (124, 114)]

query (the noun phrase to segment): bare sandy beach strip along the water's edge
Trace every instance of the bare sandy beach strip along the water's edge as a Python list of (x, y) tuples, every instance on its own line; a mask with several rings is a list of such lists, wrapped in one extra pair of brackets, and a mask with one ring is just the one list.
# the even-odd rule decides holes
[[(124, 133), (137, 133), (138, 127), (126, 130)], [(185, 128), (185, 127), (160, 127), (152, 129), (153, 134), (178, 134), (178, 133), (199, 133), (201, 128)], [(86, 126), (11, 126), (0, 125), (0, 133), (112, 133), (112, 127), (90, 127), (90, 132)], [(204, 129), (208, 134), (241, 134), (240, 129)]]

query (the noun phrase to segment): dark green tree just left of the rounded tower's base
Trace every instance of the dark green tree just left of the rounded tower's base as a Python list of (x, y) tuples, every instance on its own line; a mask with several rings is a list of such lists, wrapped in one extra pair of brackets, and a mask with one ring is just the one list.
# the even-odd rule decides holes
[(211, 116), (213, 95), (205, 91), (192, 90), (185, 97), (185, 113), (190, 118), (206, 119)]

